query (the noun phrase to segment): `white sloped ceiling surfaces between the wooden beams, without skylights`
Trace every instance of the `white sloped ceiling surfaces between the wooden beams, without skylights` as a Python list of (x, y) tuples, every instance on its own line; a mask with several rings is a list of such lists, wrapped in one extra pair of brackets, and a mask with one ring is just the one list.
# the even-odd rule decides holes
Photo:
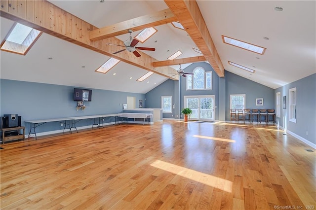
[[(53, 4), (101, 28), (168, 8), (162, 0), (50, 0)], [(273, 89), (316, 72), (316, 1), (197, 1), (225, 70)], [(277, 12), (274, 7), (283, 11)], [(13, 25), (0, 19), (1, 41)], [(177, 50), (178, 58), (199, 56), (190, 36), (171, 24), (137, 46), (161, 61)], [(133, 36), (138, 32), (133, 32)], [(264, 55), (224, 44), (222, 35), (267, 48)], [(263, 37), (269, 37), (269, 40)], [(122, 41), (128, 34), (117, 36)], [(120, 62), (106, 74), (95, 72), (110, 57), (51, 35), (43, 34), (26, 56), (1, 51), (0, 78), (147, 93), (167, 78), (153, 74), (137, 82), (147, 70)], [(52, 59), (48, 59), (52, 58)], [(258, 59), (259, 58), (259, 59)], [(232, 61), (256, 70), (249, 73), (228, 64)], [(190, 64), (182, 65), (182, 68)], [(82, 68), (84, 66), (84, 68)], [(178, 69), (177, 66), (172, 66)], [(113, 75), (116, 73), (116, 75)], [(130, 79), (132, 77), (132, 79)]]

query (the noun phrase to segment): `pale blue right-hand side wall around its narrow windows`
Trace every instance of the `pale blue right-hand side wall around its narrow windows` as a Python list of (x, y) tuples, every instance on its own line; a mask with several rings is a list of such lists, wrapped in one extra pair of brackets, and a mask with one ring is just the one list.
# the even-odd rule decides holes
[[(288, 117), (289, 89), (295, 87), (297, 94), (296, 123), (289, 121)], [(288, 131), (316, 144), (316, 73), (277, 88), (274, 92), (275, 95), (277, 92), (281, 93), (281, 115), (276, 118), (279, 125), (284, 127), (285, 121)], [(286, 96), (286, 109), (282, 107), (283, 96)]]

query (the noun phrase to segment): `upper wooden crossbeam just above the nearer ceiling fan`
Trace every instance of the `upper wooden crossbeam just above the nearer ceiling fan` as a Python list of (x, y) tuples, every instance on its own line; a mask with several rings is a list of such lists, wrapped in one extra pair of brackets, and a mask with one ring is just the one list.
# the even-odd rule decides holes
[(90, 32), (90, 39), (92, 41), (98, 41), (101, 39), (126, 34), (129, 29), (136, 32), (146, 28), (171, 23), (177, 20), (178, 19), (174, 16), (170, 9), (164, 9), (150, 15), (144, 15), (113, 24), (111, 26), (106, 26), (101, 29), (93, 30)]

